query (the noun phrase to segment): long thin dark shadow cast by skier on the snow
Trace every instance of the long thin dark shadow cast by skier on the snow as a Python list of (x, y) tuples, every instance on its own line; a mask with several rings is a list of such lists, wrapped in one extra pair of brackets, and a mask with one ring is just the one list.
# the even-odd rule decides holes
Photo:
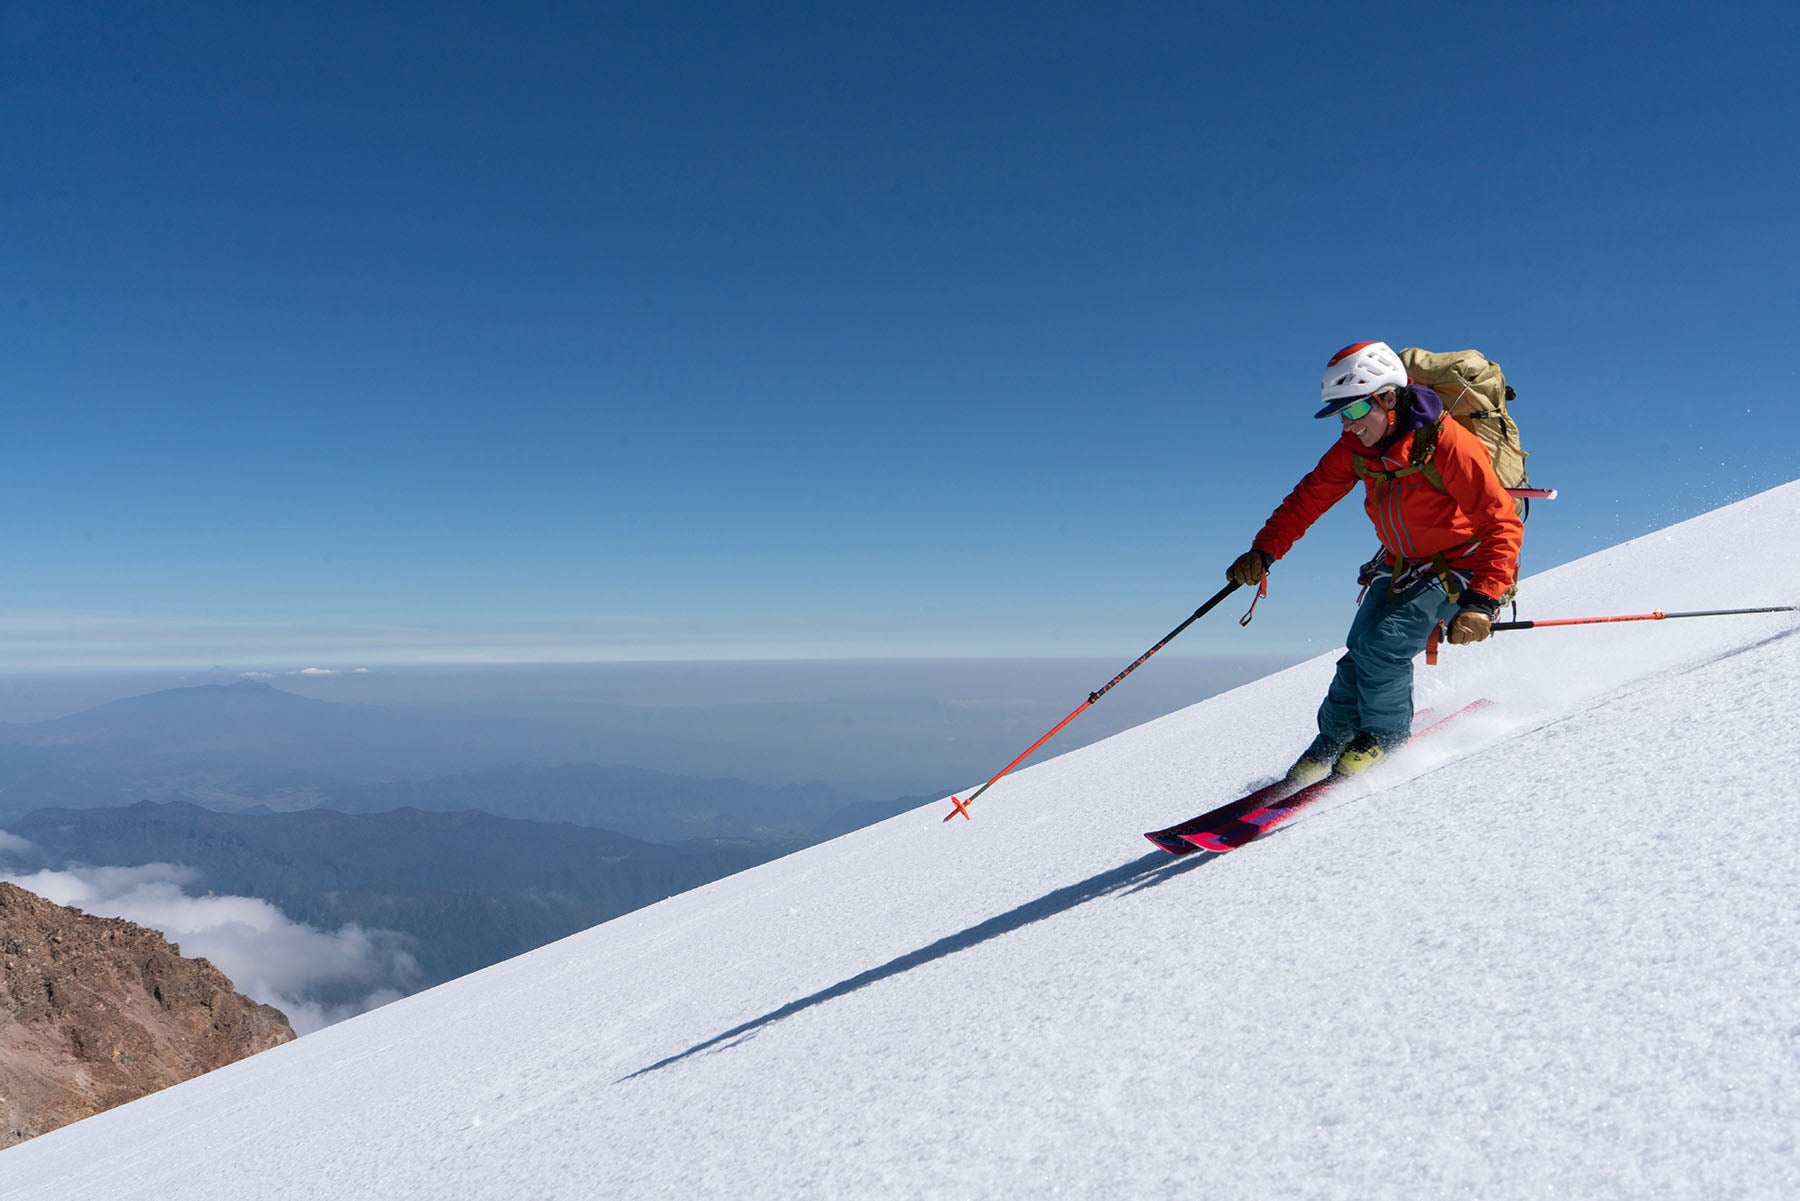
[[(1211, 862), (1219, 855), (1208, 852), (1197, 852), (1184, 855), (1179, 861), (1170, 861), (1165, 852), (1150, 852), (1141, 859), (1134, 859), (1127, 864), (1112, 868), (1111, 871), (1102, 871), (1100, 875), (1080, 880), (1078, 884), (1069, 884), (1058, 888), (1053, 893), (1046, 893), (1037, 900), (1028, 900), (1017, 909), (1008, 909), (997, 917), (981, 922), (979, 926), (970, 926), (956, 935), (945, 935), (929, 947), (920, 947), (918, 951), (909, 951), (895, 960), (887, 960), (880, 967), (871, 967), (866, 972), (851, 976), (850, 980), (839, 981), (830, 989), (821, 989), (812, 996), (805, 996), (797, 1001), (788, 1001), (778, 1010), (770, 1010), (761, 1017), (752, 1017), (751, 1021), (733, 1026), (724, 1034), (715, 1034), (704, 1043), (695, 1043), (686, 1052), (670, 1055), (668, 1059), (659, 1059), (648, 1068), (639, 1068), (637, 1071), (623, 1077), (623, 1080), (635, 1080), (637, 1077), (646, 1077), (652, 1071), (661, 1071), (662, 1068), (671, 1068), (684, 1059), (693, 1055), (702, 1055), (711, 1050), (722, 1050), (725, 1046), (736, 1046), (738, 1043), (756, 1035), (765, 1026), (772, 1026), (778, 1021), (792, 1017), (794, 1014), (805, 1012), (815, 1005), (824, 1005), (826, 1001), (835, 1001), (837, 998), (850, 996), (859, 989), (868, 989), (869, 985), (880, 983), (900, 972), (909, 972), (914, 967), (923, 967), (925, 963), (934, 963), (936, 960), (949, 958), (958, 951), (968, 951), (970, 947), (979, 947), (985, 942), (992, 942), (1001, 935), (1010, 935), (1017, 929), (1024, 929), (1033, 922), (1042, 922), (1044, 918), (1057, 917), (1058, 913), (1067, 913), (1076, 906), (1084, 906), (1089, 900), (1100, 900), (1111, 895), (1130, 895), (1143, 891), (1145, 888), (1156, 888), (1166, 880), (1175, 879), (1193, 868)], [(623, 1082), (621, 1080), (621, 1082)]]

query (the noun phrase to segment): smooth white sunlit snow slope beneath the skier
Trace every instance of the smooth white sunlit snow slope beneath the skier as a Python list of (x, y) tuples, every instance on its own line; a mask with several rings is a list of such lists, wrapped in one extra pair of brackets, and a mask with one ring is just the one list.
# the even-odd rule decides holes
[[(1787, 484), (1525, 616), (1795, 603), (1796, 529)], [(0, 1152), (0, 1197), (1800, 1196), (1795, 616), (1445, 648), (1420, 702), (1490, 715), (1233, 855), (1138, 835), (1328, 672)]]

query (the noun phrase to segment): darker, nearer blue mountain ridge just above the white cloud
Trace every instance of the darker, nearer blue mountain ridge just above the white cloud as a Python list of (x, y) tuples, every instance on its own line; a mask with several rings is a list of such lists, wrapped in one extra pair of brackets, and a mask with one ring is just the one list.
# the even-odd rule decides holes
[[(31, 843), (0, 868), (173, 862), (194, 893), (259, 897), (295, 922), (407, 935), (430, 987), (598, 922), (785, 855), (796, 841), (662, 846), (491, 814), (220, 814), (185, 803), (38, 810), (7, 830)], [(367, 990), (367, 985), (358, 985)], [(344, 998), (304, 998), (338, 1003)]]

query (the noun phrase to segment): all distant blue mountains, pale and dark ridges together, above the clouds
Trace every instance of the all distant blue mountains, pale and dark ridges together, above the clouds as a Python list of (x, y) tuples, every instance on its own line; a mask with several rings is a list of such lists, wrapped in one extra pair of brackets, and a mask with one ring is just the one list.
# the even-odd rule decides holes
[(0, 871), (180, 864), (193, 895), (256, 897), (326, 933), (398, 931), (410, 960), (371, 960), (385, 978), (292, 998), (337, 1010), (931, 799), (585, 763), (581, 749), (553, 724), (256, 682), (148, 693), (0, 727), (0, 828), (25, 841)]

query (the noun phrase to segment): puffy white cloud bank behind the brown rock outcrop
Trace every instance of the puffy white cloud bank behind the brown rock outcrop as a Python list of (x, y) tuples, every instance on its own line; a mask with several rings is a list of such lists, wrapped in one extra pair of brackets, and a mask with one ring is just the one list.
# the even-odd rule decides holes
[[(230, 976), (245, 996), (284, 1012), (299, 1034), (398, 999), (396, 985), (419, 976), (403, 935), (360, 926), (328, 933), (293, 922), (256, 897), (189, 895), (184, 886), (198, 873), (180, 864), (79, 866), (0, 879), (59, 906), (160, 931), (180, 944), (182, 954), (205, 958)], [(338, 1005), (317, 999), (346, 992), (356, 999)]]

